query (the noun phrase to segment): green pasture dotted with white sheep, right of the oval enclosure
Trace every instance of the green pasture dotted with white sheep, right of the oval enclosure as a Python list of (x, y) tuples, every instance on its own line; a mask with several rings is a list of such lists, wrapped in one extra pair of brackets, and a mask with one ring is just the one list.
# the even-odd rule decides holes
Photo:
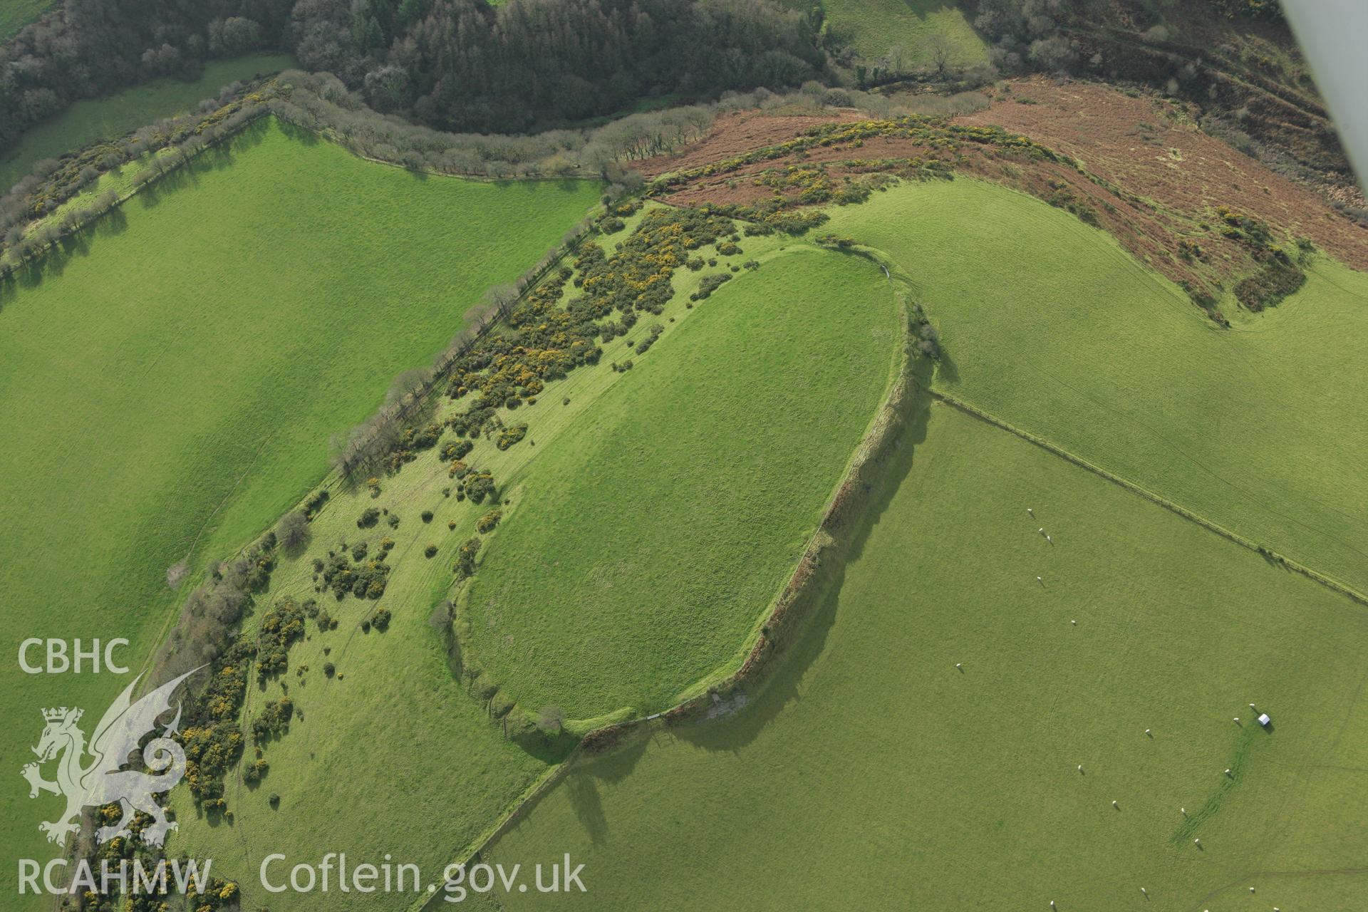
[(572, 773), (486, 860), (569, 852), (588, 893), (506, 908), (1356, 908), (1361, 607), (919, 413), (777, 677)]

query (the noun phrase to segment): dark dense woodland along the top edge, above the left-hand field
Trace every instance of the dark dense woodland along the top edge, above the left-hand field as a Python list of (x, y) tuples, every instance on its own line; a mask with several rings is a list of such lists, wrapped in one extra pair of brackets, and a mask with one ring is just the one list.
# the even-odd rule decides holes
[(379, 111), (480, 133), (825, 68), (813, 18), (773, 0), (67, 0), (0, 48), (0, 148), (77, 98), (256, 48), (294, 51)]

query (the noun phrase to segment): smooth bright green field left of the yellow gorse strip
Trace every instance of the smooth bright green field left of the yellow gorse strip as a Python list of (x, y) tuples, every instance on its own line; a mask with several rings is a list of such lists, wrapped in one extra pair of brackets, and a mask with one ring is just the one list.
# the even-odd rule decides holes
[[(198, 573), (274, 524), (323, 477), (328, 436), (596, 194), (416, 176), (263, 124), (126, 202), (41, 279), (4, 286), (8, 654), (25, 637), (129, 637), (137, 667), (178, 603), (167, 567)], [(12, 660), (3, 682), (23, 695), (3, 715), (11, 757), (37, 741), (41, 707), (97, 719), (126, 684), (30, 678)], [(55, 800), (14, 788), (0, 807), (14, 853), (45, 857)], [(14, 876), (7, 864), (0, 891)]]

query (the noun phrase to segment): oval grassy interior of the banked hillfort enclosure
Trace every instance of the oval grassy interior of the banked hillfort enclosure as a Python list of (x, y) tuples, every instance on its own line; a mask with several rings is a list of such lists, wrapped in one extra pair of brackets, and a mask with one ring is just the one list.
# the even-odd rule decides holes
[(888, 383), (867, 261), (800, 247), (699, 306), (546, 447), (475, 577), (472, 649), (527, 708), (655, 711), (739, 665)]

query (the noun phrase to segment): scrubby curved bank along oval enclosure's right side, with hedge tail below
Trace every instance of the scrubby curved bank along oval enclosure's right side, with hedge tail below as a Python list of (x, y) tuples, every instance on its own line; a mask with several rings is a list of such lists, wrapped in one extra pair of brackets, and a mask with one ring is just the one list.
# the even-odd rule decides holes
[[(871, 263), (885, 265), (878, 252), (866, 247), (855, 247), (847, 256), (862, 256)], [(859, 547), (862, 511), (873, 498), (878, 496), (878, 479), (886, 470), (882, 466), (893, 458), (900, 435), (912, 421), (912, 409), (919, 391), (930, 379), (929, 362), (917, 358), (911, 351), (911, 336), (907, 332), (910, 308), (907, 276), (896, 265), (892, 267), (889, 286), (903, 327), (889, 383), (869, 428), (847, 462), (840, 483), (822, 510), (818, 528), (807, 539), (802, 556), (788, 574), (784, 587), (747, 637), (740, 662), (731, 670), (718, 669), (713, 675), (699, 681), (681, 693), (679, 703), (669, 710), (635, 719), (624, 719), (617, 714), (616, 719), (568, 722), (568, 730), (572, 725), (591, 727), (581, 729), (583, 737), (575, 751), (532, 783), (502, 819), (453, 856), (453, 863), (484, 857), (509, 829), (524, 820), (538, 801), (568, 775), (646, 737), (653, 730), (655, 719), (676, 725), (748, 712), (747, 703), (763, 690), (776, 669), (782, 667), (788, 652), (802, 645), (814, 610), (840, 578), (851, 551)], [(442, 907), (436, 898), (423, 898), (415, 901), (410, 908), (416, 911)]]

